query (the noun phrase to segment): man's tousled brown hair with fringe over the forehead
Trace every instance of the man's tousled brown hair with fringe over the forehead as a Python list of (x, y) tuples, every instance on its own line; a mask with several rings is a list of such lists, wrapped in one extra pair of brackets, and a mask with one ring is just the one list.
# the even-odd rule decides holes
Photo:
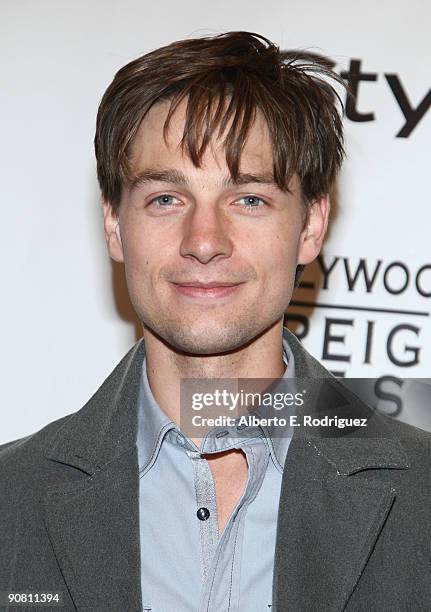
[(235, 180), (248, 130), (259, 109), (273, 145), (274, 178), (288, 190), (297, 173), (305, 204), (329, 192), (344, 156), (338, 103), (331, 81), (344, 86), (326, 57), (282, 51), (251, 32), (180, 40), (121, 68), (99, 106), (95, 135), (97, 176), (103, 198), (118, 212), (131, 180), (130, 147), (149, 109), (170, 99), (164, 125), (186, 97), (181, 145), (193, 164), (231, 121), (224, 144)]

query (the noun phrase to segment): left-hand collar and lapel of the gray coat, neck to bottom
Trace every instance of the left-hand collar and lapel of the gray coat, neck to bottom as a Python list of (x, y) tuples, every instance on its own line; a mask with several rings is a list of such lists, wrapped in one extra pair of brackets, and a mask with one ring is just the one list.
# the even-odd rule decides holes
[[(141, 340), (46, 452), (65, 465), (64, 481), (46, 492), (45, 522), (79, 612), (142, 608), (136, 430), (144, 356)], [(68, 479), (68, 466), (82, 478)]]

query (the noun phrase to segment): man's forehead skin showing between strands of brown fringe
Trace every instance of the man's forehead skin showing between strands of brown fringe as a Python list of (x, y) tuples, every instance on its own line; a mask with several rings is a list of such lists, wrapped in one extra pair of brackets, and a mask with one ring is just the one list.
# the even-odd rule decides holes
[[(131, 147), (131, 170), (134, 174), (137, 170), (147, 166), (183, 166), (199, 171), (187, 154), (187, 147), (181, 148), (181, 139), (184, 134), (186, 121), (187, 100), (183, 100), (175, 110), (169, 122), (166, 138), (163, 128), (170, 108), (170, 100), (164, 100), (155, 104), (142, 120), (138, 132)], [(201, 171), (218, 168), (226, 174), (226, 151), (224, 138), (229, 131), (231, 122), (226, 126), (224, 132), (216, 132), (212, 135), (210, 142), (202, 156)], [(202, 134), (198, 135), (200, 143)], [(257, 110), (253, 123), (247, 134), (240, 155), (240, 171), (260, 171), (272, 173), (273, 152), (267, 123), (262, 113)]]

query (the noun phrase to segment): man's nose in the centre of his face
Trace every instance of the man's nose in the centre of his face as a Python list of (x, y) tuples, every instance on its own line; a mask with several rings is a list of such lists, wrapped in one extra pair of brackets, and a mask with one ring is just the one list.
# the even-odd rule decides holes
[(184, 220), (180, 254), (194, 257), (201, 263), (230, 257), (233, 243), (229, 227), (229, 220), (222, 210), (209, 202), (197, 202)]

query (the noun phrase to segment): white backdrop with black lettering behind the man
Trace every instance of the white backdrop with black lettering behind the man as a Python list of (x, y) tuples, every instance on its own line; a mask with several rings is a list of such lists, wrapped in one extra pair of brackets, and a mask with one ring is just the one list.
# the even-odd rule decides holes
[[(305, 326), (289, 325), (308, 328), (305, 346), (339, 375), (429, 377), (426, 0), (3, 0), (0, 11), (0, 443), (78, 410), (137, 337), (103, 240), (93, 136), (104, 90), (138, 55), (227, 30), (325, 53), (337, 71), (360, 62), (368, 75), (356, 106), (366, 121), (345, 121), (348, 160), (321, 264), (295, 295), (318, 306), (292, 305)], [(397, 136), (405, 114), (410, 133)], [(354, 280), (361, 260), (368, 290), (363, 268)], [(400, 418), (431, 429), (430, 413)]]

